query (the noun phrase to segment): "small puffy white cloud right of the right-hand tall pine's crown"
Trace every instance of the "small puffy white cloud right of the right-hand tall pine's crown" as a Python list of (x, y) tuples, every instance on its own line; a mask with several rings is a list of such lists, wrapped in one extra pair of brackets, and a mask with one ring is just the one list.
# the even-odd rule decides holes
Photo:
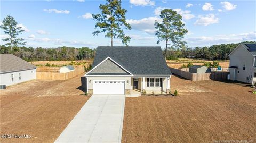
[(206, 16), (199, 15), (199, 19), (194, 24), (208, 26), (210, 24), (219, 23), (219, 18), (215, 17), (214, 14), (207, 14)]

